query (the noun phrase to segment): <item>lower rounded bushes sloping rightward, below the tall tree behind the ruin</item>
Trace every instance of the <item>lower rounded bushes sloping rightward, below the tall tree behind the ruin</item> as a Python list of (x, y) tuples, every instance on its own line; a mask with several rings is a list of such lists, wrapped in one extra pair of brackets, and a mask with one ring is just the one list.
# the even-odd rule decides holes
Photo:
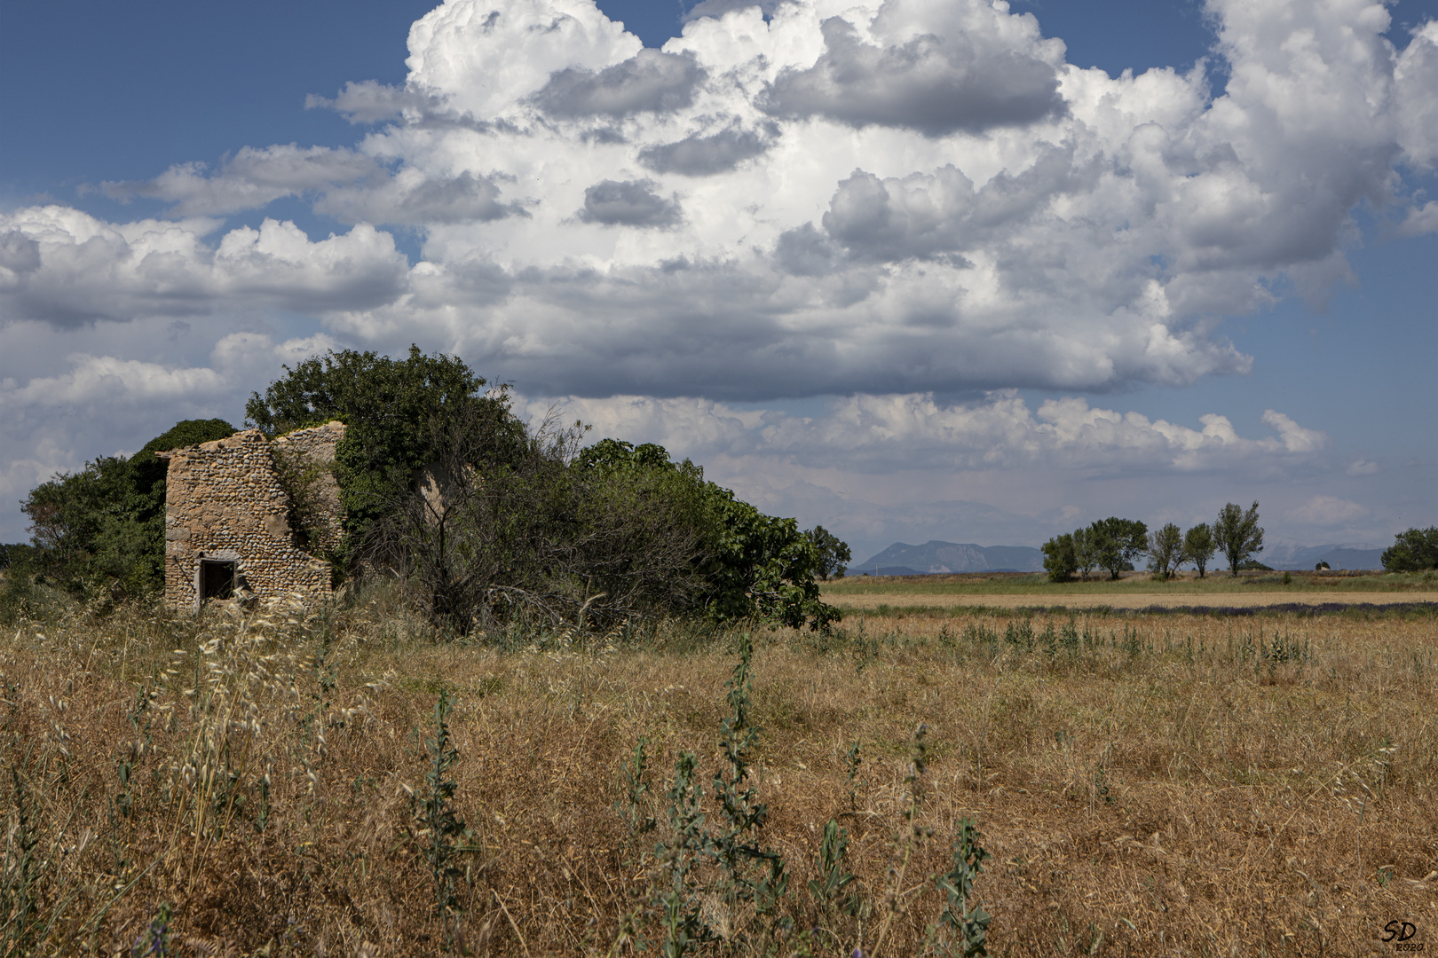
[(837, 618), (818, 597), (815, 552), (794, 520), (764, 516), (657, 445), (604, 440), (577, 451), (581, 435), (551, 419), (499, 462), (485, 431), (437, 425), (436, 458), (414, 490), (391, 498), (365, 554), (460, 635), (508, 622), (827, 628)]

